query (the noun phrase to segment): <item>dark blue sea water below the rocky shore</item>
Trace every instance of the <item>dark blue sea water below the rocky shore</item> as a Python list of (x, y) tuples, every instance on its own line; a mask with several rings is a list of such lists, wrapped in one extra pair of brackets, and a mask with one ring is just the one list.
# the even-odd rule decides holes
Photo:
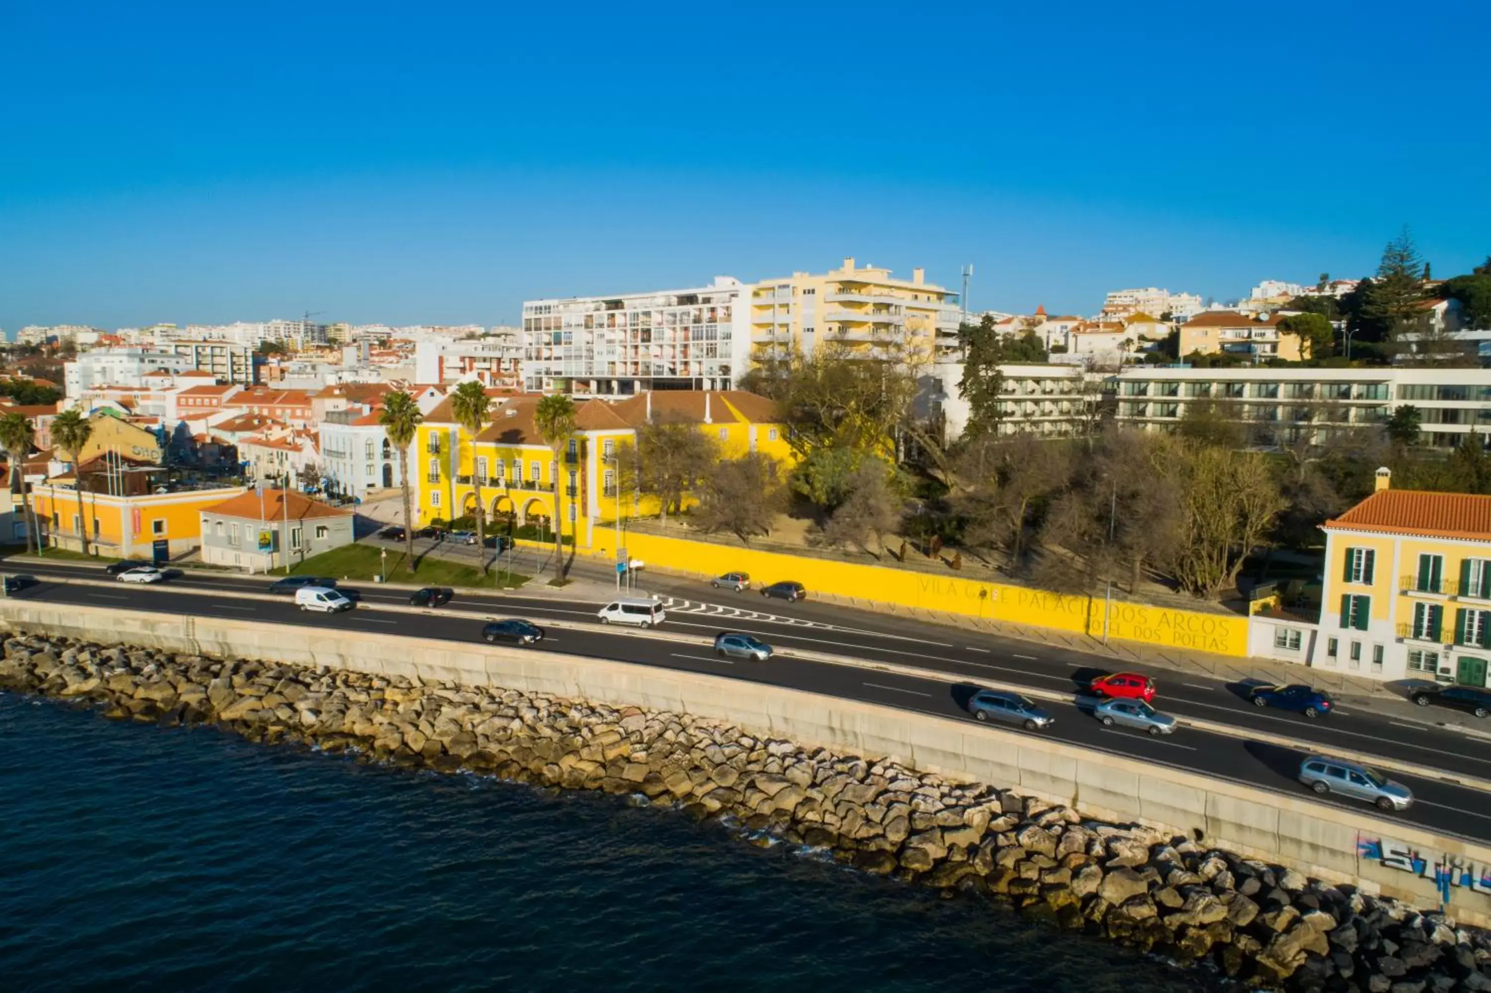
[(1211, 986), (598, 795), (0, 695), (0, 990)]

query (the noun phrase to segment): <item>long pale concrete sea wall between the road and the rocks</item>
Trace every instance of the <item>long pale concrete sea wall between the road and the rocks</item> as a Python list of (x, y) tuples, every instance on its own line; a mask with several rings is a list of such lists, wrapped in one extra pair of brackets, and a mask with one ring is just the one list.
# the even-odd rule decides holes
[[(0, 623), (100, 644), (271, 659), (420, 680), (452, 680), (637, 704), (729, 720), (762, 735), (865, 756), (1069, 804), (1084, 814), (1187, 833), (1419, 907), (1440, 902), (1436, 869), (1454, 866), (1449, 908), (1491, 926), (1491, 847), (1336, 810), (1305, 796), (1091, 753), (875, 704), (713, 675), (550, 652), (28, 601), (0, 602)], [(1406, 853), (1406, 854), (1405, 854)]]

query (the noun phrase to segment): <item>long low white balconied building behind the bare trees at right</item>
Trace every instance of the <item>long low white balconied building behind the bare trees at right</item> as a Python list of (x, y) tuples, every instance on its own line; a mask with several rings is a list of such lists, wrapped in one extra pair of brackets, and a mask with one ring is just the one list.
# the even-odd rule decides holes
[[(1249, 444), (1330, 444), (1381, 425), (1402, 406), (1418, 409), (1421, 443), (1448, 449), (1472, 429), (1491, 431), (1491, 370), (1479, 368), (1179, 368), (1132, 365), (1117, 374), (1065, 365), (1005, 365), (1000, 434), (1074, 434), (1094, 417), (1164, 431), (1191, 404), (1212, 404), (1248, 429)], [(939, 362), (923, 382), (923, 410), (956, 438), (968, 423), (957, 391), (963, 370)]]

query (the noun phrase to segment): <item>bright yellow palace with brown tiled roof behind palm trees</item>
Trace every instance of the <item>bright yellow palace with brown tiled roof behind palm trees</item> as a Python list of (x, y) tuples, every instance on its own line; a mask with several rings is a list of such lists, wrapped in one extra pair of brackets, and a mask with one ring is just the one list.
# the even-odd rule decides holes
[[(579, 547), (598, 526), (658, 513), (656, 498), (619, 492), (619, 452), (637, 443), (650, 420), (690, 423), (719, 444), (722, 458), (762, 452), (792, 459), (787, 429), (775, 406), (743, 391), (646, 392), (619, 403), (583, 400), (576, 432), (559, 458), (534, 425), (538, 395), (492, 391), (489, 423), (476, 438), (456, 423), (447, 398), (419, 425), (410, 485), (416, 488), (414, 526), (476, 513), (477, 483), (488, 519), (511, 516), (519, 526), (564, 522)], [(558, 502), (558, 508), (556, 508)], [(558, 513), (556, 513), (558, 510)]]

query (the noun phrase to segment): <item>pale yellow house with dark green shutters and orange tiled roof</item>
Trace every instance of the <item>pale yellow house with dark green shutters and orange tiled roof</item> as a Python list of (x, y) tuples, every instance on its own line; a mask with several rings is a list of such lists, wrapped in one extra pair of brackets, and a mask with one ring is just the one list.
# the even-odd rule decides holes
[(1487, 686), (1491, 497), (1396, 491), (1327, 520), (1312, 665), (1381, 680)]

